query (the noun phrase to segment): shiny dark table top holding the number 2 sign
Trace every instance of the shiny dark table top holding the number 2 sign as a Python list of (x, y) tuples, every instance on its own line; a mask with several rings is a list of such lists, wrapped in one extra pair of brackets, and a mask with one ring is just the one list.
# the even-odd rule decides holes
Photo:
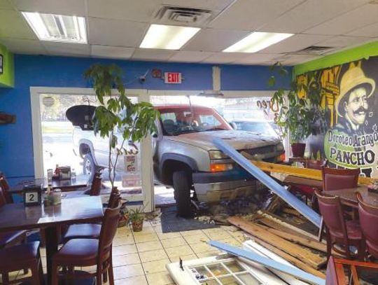
[(104, 216), (99, 196), (62, 198), (62, 204), (44, 207), (23, 203), (0, 207), (0, 232), (45, 228), (49, 225), (88, 223)]

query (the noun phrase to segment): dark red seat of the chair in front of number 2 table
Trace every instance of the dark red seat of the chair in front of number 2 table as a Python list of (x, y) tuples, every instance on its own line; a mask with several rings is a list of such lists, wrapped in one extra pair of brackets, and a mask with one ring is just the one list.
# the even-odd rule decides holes
[(98, 249), (98, 239), (70, 239), (59, 249), (53, 259), (59, 265), (96, 264)]

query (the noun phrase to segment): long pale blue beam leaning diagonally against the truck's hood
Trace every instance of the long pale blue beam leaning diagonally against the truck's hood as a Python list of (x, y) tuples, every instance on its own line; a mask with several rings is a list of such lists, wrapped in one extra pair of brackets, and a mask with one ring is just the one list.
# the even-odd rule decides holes
[(255, 177), (255, 179), (258, 179), (262, 183), (264, 183), (267, 188), (272, 190), (276, 195), (281, 197), (286, 203), (290, 204), (291, 207), (299, 211), (303, 216), (309, 219), (311, 223), (314, 223), (318, 228), (321, 225), (321, 217), (307, 206), (307, 204), (304, 204), (301, 200), (299, 200), (295, 195), (290, 193), (286, 188), (279, 185), (272, 177), (267, 175), (265, 172), (263, 172), (260, 168), (253, 165), (249, 160), (244, 158), (243, 155), (235, 151), (235, 148), (232, 148), (229, 144), (225, 143), (222, 139), (214, 139), (214, 144), (224, 153), (226, 153), (230, 158), (235, 160), (238, 165), (246, 169), (247, 172), (249, 172), (251, 175)]

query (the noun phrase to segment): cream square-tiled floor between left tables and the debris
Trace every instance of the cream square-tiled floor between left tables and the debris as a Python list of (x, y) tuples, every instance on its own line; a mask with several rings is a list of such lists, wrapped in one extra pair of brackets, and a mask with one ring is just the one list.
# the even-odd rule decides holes
[[(216, 239), (240, 246), (248, 237), (235, 227), (223, 226), (207, 230), (162, 233), (160, 218), (145, 221), (142, 232), (118, 228), (113, 241), (113, 271), (116, 285), (168, 285), (174, 284), (165, 269), (167, 263), (213, 256), (219, 253), (206, 242)], [(45, 266), (45, 250), (41, 249)], [(45, 269), (45, 268), (44, 268)], [(95, 267), (83, 267), (92, 271)], [(11, 279), (23, 277), (13, 272)]]

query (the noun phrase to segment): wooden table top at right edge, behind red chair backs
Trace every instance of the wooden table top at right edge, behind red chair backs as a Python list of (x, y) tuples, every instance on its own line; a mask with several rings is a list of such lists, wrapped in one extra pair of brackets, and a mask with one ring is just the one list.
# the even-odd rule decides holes
[(361, 193), (363, 200), (366, 204), (371, 204), (374, 207), (378, 207), (378, 193), (371, 192), (367, 190), (367, 187), (357, 187), (357, 188), (345, 188), (340, 190), (332, 190), (328, 191), (327, 194), (335, 195), (340, 197), (344, 202), (349, 202), (349, 204), (353, 207), (358, 206), (358, 200), (356, 197), (356, 193)]

